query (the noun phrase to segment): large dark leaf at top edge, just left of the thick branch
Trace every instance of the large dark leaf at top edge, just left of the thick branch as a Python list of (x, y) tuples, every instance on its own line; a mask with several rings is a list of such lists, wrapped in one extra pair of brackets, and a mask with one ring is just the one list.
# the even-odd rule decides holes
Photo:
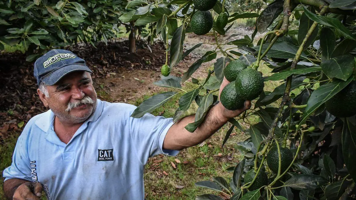
[(263, 10), (260, 16), (257, 18), (257, 30), (260, 33), (266, 31), (266, 29), (272, 24), (274, 19), (278, 17), (283, 11), (283, 1), (276, 0), (269, 4), (265, 10)]

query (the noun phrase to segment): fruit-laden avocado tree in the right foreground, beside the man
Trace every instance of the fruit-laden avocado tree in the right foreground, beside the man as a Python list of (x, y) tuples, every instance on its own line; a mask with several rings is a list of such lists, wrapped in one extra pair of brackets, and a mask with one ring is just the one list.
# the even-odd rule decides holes
[[(246, 99), (252, 101), (250, 110), (229, 120), (231, 128), (222, 143), (224, 146), (234, 127), (248, 132), (250, 137), (235, 148), (245, 158), (231, 168), (230, 184), (214, 177), (213, 181), (198, 181), (197, 186), (225, 193), (233, 200), (352, 198), (356, 181), (355, 2), (275, 0), (267, 1), (260, 14), (229, 14), (225, 0), (130, 1), (142, 7), (125, 14), (128, 21), (157, 22), (156, 32), (167, 45), (167, 59), (164, 76), (154, 84), (171, 89), (144, 100), (131, 116), (142, 117), (182, 95), (173, 120), (197, 104), (195, 122), (185, 127), (194, 134), (218, 101), (226, 77), (230, 83), (219, 100), (227, 109), (242, 107)], [(256, 18), (253, 34), (233, 41), (221, 37), (240, 18)], [(203, 44), (183, 53), (188, 32), (212, 32), (215, 42), (210, 45), (215, 49), (197, 59), (182, 77), (169, 75)], [(263, 37), (254, 43), (257, 32)], [(219, 52), (223, 56), (216, 59)], [(214, 69), (205, 80), (192, 78), (202, 63), (213, 59)], [(263, 64), (271, 68), (272, 75), (258, 72)], [(188, 80), (194, 87), (182, 89)], [(280, 85), (272, 92), (263, 91), (265, 81), (279, 81)], [(260, 122), (244, 130), (239, 120), (249, 123), (251, 116), (258, 116)], [(222, 198), (203, 194), (197, 199)]]

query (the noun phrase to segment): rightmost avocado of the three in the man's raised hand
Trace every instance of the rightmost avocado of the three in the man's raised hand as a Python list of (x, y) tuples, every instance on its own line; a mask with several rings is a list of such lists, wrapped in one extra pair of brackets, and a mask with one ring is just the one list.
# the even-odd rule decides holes
[(262, 74), (255, 69), (246, 68), (242, 70), (236, 77), (236, 91), (239, 92), (243, 99), (256, 99), (265, 84), (263, 83)]

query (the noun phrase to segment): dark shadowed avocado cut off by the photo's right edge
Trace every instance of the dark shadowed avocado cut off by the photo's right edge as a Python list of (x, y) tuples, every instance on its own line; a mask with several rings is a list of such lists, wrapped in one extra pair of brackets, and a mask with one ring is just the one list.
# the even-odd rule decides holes
[(339, 93), (325, 102), (330, 114), (336, 117), (351, 117), (356, 115), (356, 81), (352, 81)]

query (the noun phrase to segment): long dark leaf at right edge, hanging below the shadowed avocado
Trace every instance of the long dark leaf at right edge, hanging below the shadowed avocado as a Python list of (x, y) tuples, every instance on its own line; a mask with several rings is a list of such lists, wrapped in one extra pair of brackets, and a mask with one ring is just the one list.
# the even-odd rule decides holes
[(342, 155), (347, 170), (351, 178), (356, 180), (356, 126), (348, 120), (344, 120), (344, 127), (342, 128)]

